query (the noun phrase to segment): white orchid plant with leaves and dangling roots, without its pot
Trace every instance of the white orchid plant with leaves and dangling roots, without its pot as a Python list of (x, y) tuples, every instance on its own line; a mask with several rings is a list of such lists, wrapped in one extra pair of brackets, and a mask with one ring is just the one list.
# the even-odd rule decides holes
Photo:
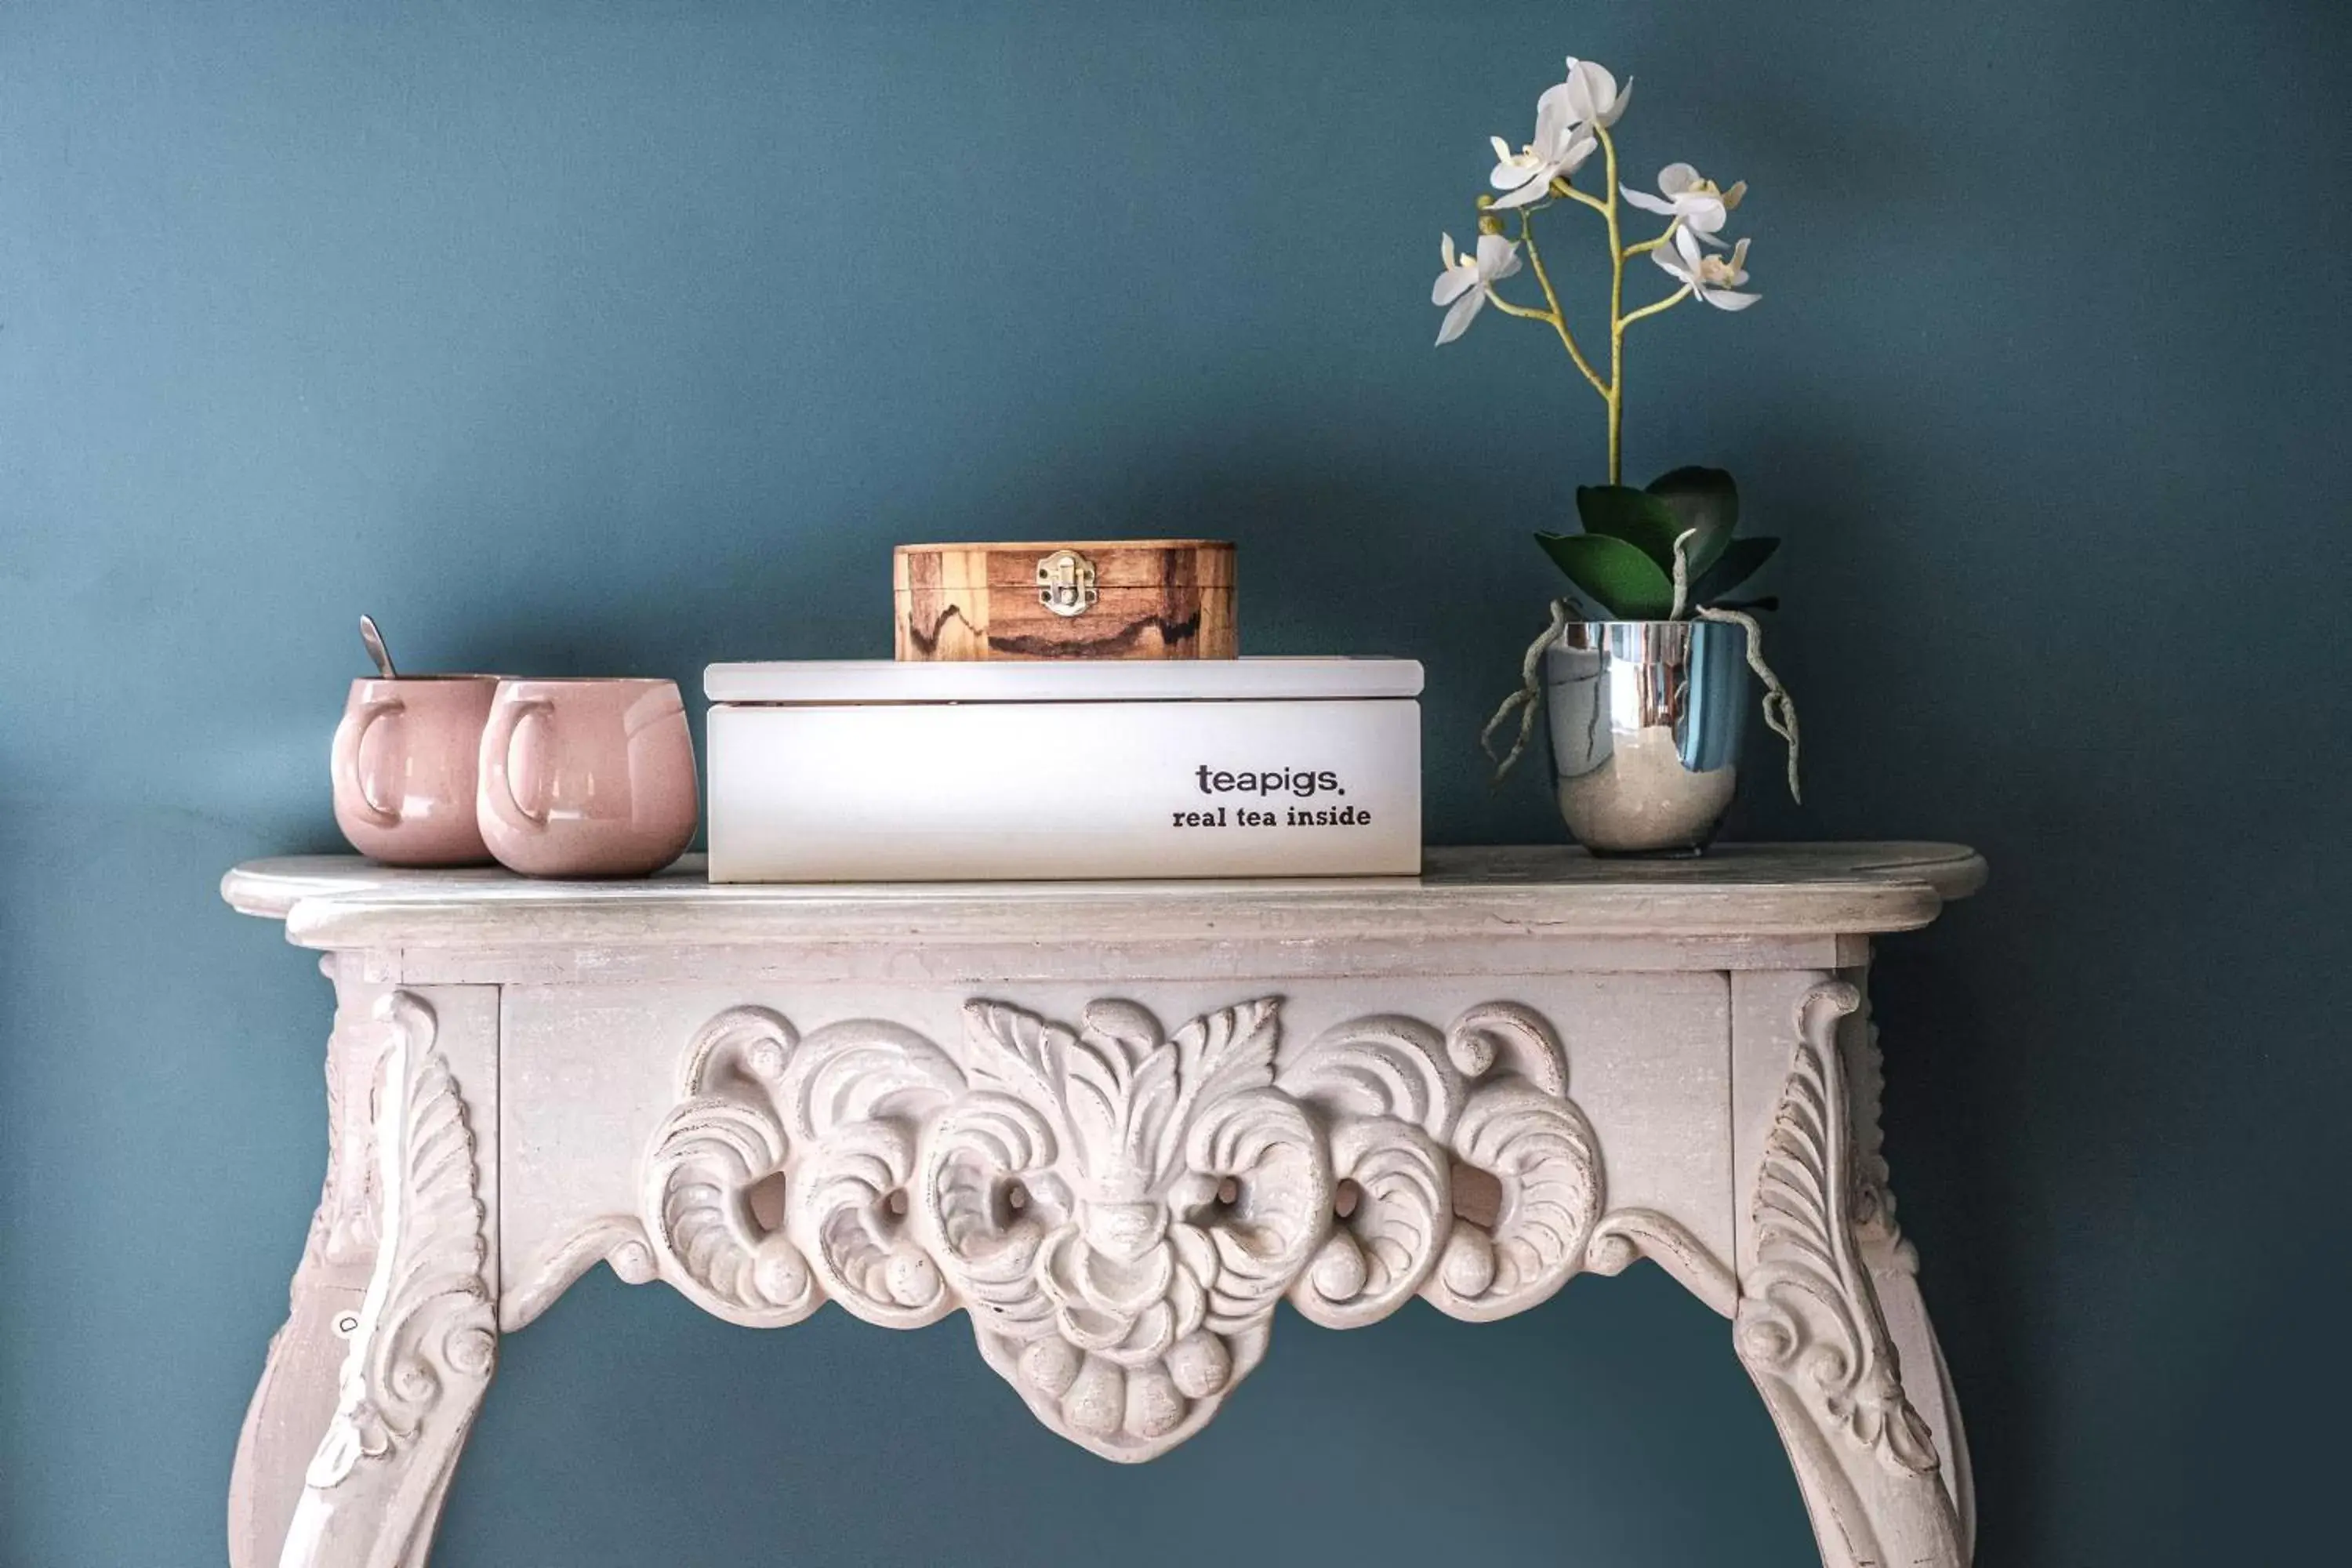
[[(1618, 80), (1599, 63), (1569, 56), (1566, 80), (1536, 99), (1536, 139), (1517, 153), (1494, 136), (1494, 190), (1477, 197), (1477, 247), (1463, 252), (1454, 235), (1439, 242), (1444, 270), (1430, 303), (1444, 308), (1437, 346), (1444, 348), (1494, 306), (1503, 315), (1543, 322), (1559, 334), (1576, 371), (1609, 411), (1609, 482), (1576, 489), (1583, 534), (1536, 534), (1536, 543), (1566, 574), (1581, 599), (1613, 621), (1738, 621), (1748, 632), (1748, 663), (1764, 684), (1764, 722), (1788, 741), (1788, 788), (1797, 795), (1797, 710), (1788, 689), (1762, 656), (1762, 630), (1748, 611), (1776, 609), (1776, 599), (1731, 599), (1780, 548), (1778, 538), (1736, 538), (1740, 496), (1722, 468), (1677, 468), (1644, 489), (1625, 484), (1625, 329), (1663, 315), (1684, 301), (1717, 310), (1745, 310), (1762, 299), (1748, 292), (1748, 240), (1731, 242), (1724, 226), (1748, 195), (1748, 181), (1729, 190), (1686, 162), (1658, 172), (1658, 193), (1618, 183), (1618, 148), (1611, 134), (1632, 101), (1632, 78)], [(1599, 153), (1599, 190), (1576, 183), (1576, 174)], [(1599, 214), (1609, 242), (1609, 374), (1576, 341), (1536, 244), (1536, 214), (1571, 202)], [(1663, 216), (1665, 228), (1649, 240), (1625, 240), (1625, 209)], [(1534, 270), (1543, 306), (1524, 306), (1496, 292), (1524, 266)], [(1649, 256), (1672, 289), (1661, 299), (1625, 308), (1625, 263)], [(1508, 773), (1526, 748), (1536, 722), (1536, 665), (1559, 637), (1569, 602), (1552, 602), (1552, 625), (1526, 649), (1522, 686), (1486, 724), (1484, 741), (1517, 712), (1519, 738), (1498, 762)]]

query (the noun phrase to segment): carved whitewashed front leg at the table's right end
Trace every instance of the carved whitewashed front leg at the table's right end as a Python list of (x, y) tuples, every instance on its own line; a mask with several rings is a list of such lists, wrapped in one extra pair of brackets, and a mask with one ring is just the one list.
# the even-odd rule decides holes
[[(1863, 1232), (1865, 1171), (1839, 1048), (1839, 1020), (1858, 1004), (1853, 985), (1818, 980), (1795, 1006), (1795, 1051), (1748, 1201), (1733, 1340), (1788, 1446), (1825, 1568), (1964, 1568), (1936, 1432), (1905, 1394), (1879, 1305), (1879, 1237), (1865, 1244)], [(1903, 1307), (1924, 1328), (1917, 1288)]]

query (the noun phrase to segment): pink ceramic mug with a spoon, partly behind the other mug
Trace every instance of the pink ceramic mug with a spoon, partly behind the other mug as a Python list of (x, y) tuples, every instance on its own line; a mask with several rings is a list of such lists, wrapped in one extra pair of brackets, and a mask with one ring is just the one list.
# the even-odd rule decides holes
[(334, 820), (386, 865), (482, 865), (475, 764), (496, 675), (355, 679), (334, 729)]

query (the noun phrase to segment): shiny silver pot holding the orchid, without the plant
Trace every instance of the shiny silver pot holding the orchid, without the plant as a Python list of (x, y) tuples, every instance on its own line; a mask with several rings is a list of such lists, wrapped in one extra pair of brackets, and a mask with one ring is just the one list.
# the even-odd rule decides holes
[(1559, 816), (1592, 853), (1698, 853), (1738, 785), (1748, 632), (1726, 621), (1571, 621), (1543, 649)]

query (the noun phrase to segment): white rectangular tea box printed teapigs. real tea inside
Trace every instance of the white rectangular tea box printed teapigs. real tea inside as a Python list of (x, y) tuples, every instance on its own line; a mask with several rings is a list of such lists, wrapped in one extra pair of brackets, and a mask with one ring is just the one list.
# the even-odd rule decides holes
[(713, 665), (713, 882), (1421, 872), (1399, 658)]

